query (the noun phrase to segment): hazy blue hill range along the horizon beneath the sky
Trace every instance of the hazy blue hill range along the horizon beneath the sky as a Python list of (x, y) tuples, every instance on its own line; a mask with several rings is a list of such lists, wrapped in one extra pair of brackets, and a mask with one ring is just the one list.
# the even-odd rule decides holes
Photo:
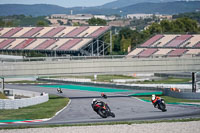
[[(121, 1), (121, 0), (119, 0)], [(125, 0), (128, 1), (128, 0)], [(131, 0), (130, 0), (131, 1)], [(138, 1), (138, 0), (135, 0)], [(140, 0), (145, 1), (145, 0)], [(159, 0), (149, 0), (159, 1)], [(74, 7), (64, 8), (56, 5), (36, 4), (36, 5), (21, 5), (21, 4), (0, 4), (0, 16), (8, 15), (32, 15), (32, 16), (47, 16), (51, 14), (70, 14), (73, 10), (74, 14), (121, 14), (130, 13), (160, 13), (160, 14), (178, 14), (184, 12), (194, 12), (200, 10), (200, 1), (176, 1), (176, 2), (161, 2), (161, 3), (138, 3), (118, 9), (110, 9), (101, 7)]]

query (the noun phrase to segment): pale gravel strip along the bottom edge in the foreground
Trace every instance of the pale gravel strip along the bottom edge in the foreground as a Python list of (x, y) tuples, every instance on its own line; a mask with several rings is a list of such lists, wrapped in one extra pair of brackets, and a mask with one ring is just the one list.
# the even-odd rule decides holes
[(10, 129), (0, 133), (200, 133), (200, 121)]

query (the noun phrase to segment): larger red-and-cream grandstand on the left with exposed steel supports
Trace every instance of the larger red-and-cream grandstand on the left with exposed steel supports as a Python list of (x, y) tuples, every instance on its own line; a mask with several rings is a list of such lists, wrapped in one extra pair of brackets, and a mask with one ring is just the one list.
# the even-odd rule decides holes
[(109, 26), (9, 27), (0, 29), (0, 51), (57, 55), (101, 55), (107, 45), (99, 39)]

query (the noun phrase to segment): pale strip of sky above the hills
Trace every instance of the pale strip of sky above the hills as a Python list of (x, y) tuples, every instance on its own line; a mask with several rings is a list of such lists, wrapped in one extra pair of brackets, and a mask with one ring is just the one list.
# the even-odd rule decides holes
[(99, 6), (116, 0), (0, 0), (0, 4), (53, 4), (62, 7)]

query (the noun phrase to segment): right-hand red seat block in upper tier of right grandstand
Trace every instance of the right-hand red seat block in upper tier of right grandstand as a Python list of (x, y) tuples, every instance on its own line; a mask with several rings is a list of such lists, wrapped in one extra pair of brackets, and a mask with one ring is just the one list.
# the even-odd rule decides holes
[(168, 44), (166, 44), (165, 47), (179, 47), (183, 42), (187, 41), (191, 37), (192, 35), (181, 35), (169, 42)]

